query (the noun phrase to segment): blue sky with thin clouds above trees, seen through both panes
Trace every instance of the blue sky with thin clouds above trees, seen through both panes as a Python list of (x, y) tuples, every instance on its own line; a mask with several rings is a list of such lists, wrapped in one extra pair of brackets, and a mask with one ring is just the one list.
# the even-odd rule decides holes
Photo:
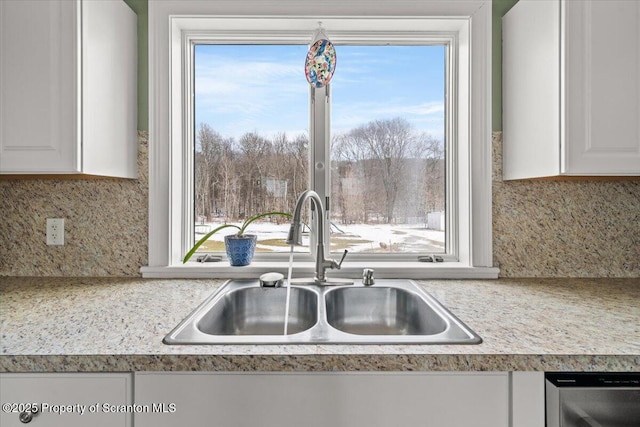
[[(224, 137), (309, 129), (306, 45), (196, 46), (196, 126)], [(444, 46), (336, 46), (331, 80), (334, 134), (376, 119), (404, 117), (444, 133)]]

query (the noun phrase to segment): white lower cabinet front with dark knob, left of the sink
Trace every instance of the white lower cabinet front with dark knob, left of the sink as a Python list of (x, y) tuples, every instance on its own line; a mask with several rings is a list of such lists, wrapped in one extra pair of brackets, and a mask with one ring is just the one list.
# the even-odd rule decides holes
[(24, 404), (41, 410), (39, 427), (132, 425), (131, 374), (0, 374), (0, 425), (24, 425)]

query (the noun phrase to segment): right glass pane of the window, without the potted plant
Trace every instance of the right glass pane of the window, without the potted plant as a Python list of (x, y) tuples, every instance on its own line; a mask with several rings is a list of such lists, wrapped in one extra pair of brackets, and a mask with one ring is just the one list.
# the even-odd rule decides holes
[(445, 251), (445, 46), (338, 46), (331, 250)]

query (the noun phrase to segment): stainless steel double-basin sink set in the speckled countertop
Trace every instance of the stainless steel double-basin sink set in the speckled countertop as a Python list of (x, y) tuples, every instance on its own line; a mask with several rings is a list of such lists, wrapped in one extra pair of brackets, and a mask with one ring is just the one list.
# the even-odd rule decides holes
[(260, 287), (230, 280), (164, 339), (165, 344), (479, 344), (482, 339), (411, 280), (373, 286)]

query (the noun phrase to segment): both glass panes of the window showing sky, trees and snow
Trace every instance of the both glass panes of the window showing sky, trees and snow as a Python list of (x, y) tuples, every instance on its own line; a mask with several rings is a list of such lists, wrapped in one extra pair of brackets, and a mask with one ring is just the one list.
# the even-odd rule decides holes
[[(192, 67), (196, 240), (246, 216), (292, 212), (310, 187), (310, 142), (323, 150), (329, 140), (332, 251), (446, 253), (446, 45), (338, 46), (331, 136), (310, 141), (324, 125), (309, 123), (307, 46), (211, 42), (194, 46)], [(288, 252), (287, 231), (281, 217), (254, 223), (257, 251)], [(224, 252), (223, 234), (200, 252)]]

